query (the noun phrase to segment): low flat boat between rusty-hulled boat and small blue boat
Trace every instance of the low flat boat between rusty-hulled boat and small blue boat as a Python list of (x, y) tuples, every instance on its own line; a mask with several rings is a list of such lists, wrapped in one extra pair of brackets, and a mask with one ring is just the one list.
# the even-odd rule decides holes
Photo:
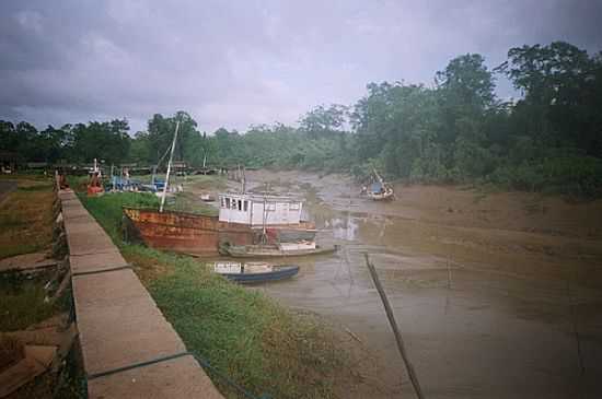
[(234, 258), (283, 258), (292, 256), (334, 254), (338, 247), (323, 247), (315, 243), (280, 243), (255, 245), (221, 245), (220, 253)]

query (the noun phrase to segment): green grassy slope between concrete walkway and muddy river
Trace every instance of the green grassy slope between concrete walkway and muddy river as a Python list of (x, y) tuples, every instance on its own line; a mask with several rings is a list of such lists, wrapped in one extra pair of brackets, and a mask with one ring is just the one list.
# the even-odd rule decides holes
[[(81, 199), (134, 265), (188, 350), (238, 384), (274, 398), (329, 398), (335, 396), (335, 378), (349, 377), (346, 352), (336, 348), (340, 343), (323, 320), (228, 282), (192, 257), (124, 244), (121, 206), (157, 206), (152, 195)], [(236, 397), (213, 380), (222, 392)]]

